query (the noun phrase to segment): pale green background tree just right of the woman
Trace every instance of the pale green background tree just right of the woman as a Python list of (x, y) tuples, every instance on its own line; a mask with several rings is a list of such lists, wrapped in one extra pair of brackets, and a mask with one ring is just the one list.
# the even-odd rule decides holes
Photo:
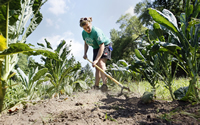
[(112, 61), (115, 63), (120, 59), (129, 61), (129, 55), (133, 54), (137, 47), (135, 41), (144, 35), (146, 30), (138, 18), (130, 14), (122, 15), (117, 23), (120, 24), (120, 31), (112, 29), (110, 32), (113, 42)]

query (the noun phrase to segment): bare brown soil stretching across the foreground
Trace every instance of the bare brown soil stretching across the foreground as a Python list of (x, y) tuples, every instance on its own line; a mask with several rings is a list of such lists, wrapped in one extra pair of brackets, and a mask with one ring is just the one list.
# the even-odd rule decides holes
[(143, 104), (132, 92), (100, 90), (46, 99), (3, 112), (1, 125), (200, 125), (200, 104), (158, 101)]

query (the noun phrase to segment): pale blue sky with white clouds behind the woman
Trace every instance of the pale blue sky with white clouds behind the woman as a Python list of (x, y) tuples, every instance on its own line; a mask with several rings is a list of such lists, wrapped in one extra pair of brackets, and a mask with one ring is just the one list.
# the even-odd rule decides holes
[[(134, 7), (142, 0), (48, 0), (41, 8), (43, 20), (36, 30), (27, 38), (27, 43), (37, 46), (47, 39), (55, 49), (61, 40), (70, 44), (71, 53), (82, 66), (89, 63), (83, 59), (84, 41), (79, 20), (92, 17), (92, 25), (100, 28), (110, 38), (111, 29), (119, 30), (116, 21), (124, 14), (134, 15)], [(45, 44), (46, 45), (46, 44)], [(92, 60), (92, 47), (87, 56)], [(33, 57), (40, 61), (40, 56)]]

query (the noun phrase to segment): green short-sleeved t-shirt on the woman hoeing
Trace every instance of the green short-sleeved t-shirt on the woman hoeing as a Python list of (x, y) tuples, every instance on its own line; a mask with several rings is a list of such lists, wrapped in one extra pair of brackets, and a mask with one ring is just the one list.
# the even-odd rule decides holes
[(90, 33), (83, 30), (82, 37), (83, 40), (94, 49), (98, 49), (99, 45), (102, 43), (105, 45), (110, 43), (110, 40), (103, 34), (102, 30), (94, 26), (92, 26), (92, 31)]

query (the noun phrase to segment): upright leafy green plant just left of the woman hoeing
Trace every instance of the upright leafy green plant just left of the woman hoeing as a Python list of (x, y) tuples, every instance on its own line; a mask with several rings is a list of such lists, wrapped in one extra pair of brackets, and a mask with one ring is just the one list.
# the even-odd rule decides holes
[[(45, 39), (46, 47), (52, 49), (51, 44)], [(45, 46), (44, 44), (39, 43), (40, 46)], [(52, 86), (47, 90), (52, 94), (55, 94), (59, 97), (60, 91), (64, 90), (64, 87), (70, 85), (67, 83), (70, 78), (73, 78), (74, 72), (77, 72), (81, 65), (79, 62), (75, 62), (74, 57), (68, 57), (70, 54), (70, 45), (66, 41), (62, 40), (60, 44), (55, 49), (55, 52), (58, 53), (58, 57), (61, 60), (55, 60), (53, 58), (42, 57), (44, 61), (44, 66), (48, 68), (49, 72), (47, 77), (50, 79)], [(76, 81), (74, 81), (76, 82)], [(79, 82), (84, 84), (83, 82)], [(69, 86), (68, 86), (69, 87)]]

